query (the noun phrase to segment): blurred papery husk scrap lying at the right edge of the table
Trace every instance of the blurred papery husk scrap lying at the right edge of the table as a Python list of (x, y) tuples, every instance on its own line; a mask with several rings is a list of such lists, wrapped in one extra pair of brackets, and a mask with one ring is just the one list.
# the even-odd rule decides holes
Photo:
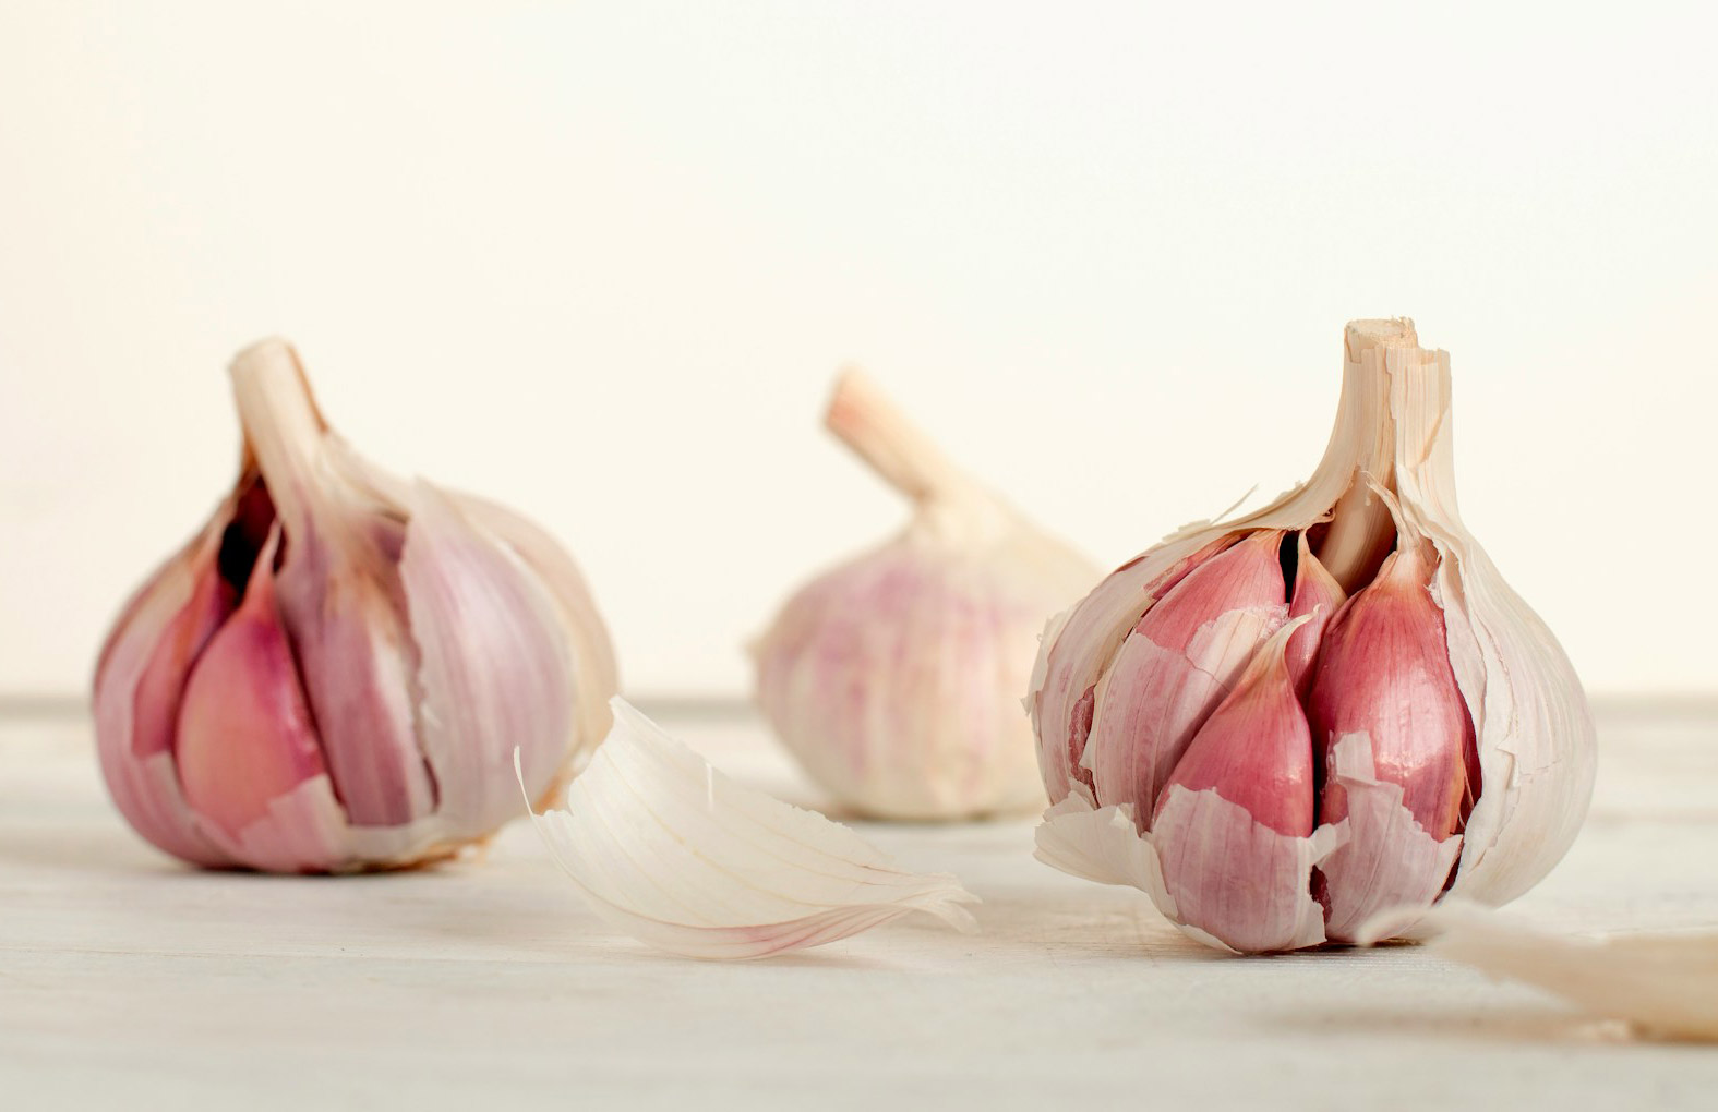
[[(1563, 939), (1462, 899), (1410, 915), (1440, 958), (1544, 988), (1593, 1016), (1624, 1019), (1649, 1035), (1718, 1042), (1718, 934)], [(1397, 916), (1386, 913), (1361, 939), (1388, 937), (1397, 925)]]

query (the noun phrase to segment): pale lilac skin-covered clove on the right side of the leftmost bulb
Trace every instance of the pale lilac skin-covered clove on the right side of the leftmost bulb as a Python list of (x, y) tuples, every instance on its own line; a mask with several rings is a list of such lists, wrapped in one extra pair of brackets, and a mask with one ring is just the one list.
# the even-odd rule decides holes
[(560, 772), (576, 700), (569, 638), (536, 577), (452, 498), (417, 480), (409, 505), (400, 582), (421, 661), (423, 748), (447, 834), (479, 837), (517, 808), (515, 748), (536, 798)]

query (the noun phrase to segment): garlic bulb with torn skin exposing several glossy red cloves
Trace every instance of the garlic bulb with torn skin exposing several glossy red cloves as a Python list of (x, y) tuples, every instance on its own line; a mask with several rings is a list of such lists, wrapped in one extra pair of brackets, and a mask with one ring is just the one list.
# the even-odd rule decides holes
[(1313, 479), (1051, 621), (1027, 697), (1039, 858), (1235, 951), (1536, 884), (1586, 813), (1593, 719), (1453, 475), (1448, 355), (1409, 321), (1349, 324)]

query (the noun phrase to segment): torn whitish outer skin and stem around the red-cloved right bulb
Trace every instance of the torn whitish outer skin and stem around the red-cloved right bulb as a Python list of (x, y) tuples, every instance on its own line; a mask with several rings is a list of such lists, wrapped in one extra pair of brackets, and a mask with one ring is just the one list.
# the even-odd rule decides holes
[[(1051, 621), (1027, 695), (1051, 801), (1084, 795), (1093, 812), (1113, 803), (1101, 786), (1093, 795), (1084, 774), (1105, 758), (1093, 753), (1091, 740), (1101, 740), (1098, 728), (1115, 714), (1105, 707), (1117, 690), (1113, 671), (1130, 633), (1194, 570), (1261, 530), (1304, 537), (1319, 529), (1318, 563), (1352, 606), (1400, 532), (1423, 539), (1435, 554), (1429, 594), (1443, 616), (1445, 650), (1481, 769), (1452, 891), (1496, 904), (1538, 882), (1586, 813), (1593, 721), (1569, 659), (1457, 517), (1450, 424), (1448, 355), (1423, 350), (1409, 321), (1350, 324), (1337, 424), (1304, 486), (1239, 520), (1182, 529)], [(1381, 807), (1386, 795), (1369, 798)], [(1400, 808), (1400, 800), (1392, 807)], [(1069, 820), (1055, 807), (1046, 812), (1051, 825)], [(1393, 819), (1374, 827), (1400, 829), (1404, 839), (1409, 832)], [(1057, 843), (1048, 856), (1069, 868), (1079, 839), (1048, 837)], [(1440, 853), (1453, 849), (1447, 844)], [(1074, 863), (1070, 872), (1103, 870)]]

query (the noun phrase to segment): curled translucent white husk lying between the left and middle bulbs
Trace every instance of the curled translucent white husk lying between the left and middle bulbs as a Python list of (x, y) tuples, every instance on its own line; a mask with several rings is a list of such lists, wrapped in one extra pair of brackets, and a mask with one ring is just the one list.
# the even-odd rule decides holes
[(735, 784), (624, 698), (612, 709), (565, 810), (533, 822), (617, 930), (708, 959), (823, 946), (912, 911), (976, 930), (962, 904), (978, 897), (953, 877), (904, 872), (847, 827)]

